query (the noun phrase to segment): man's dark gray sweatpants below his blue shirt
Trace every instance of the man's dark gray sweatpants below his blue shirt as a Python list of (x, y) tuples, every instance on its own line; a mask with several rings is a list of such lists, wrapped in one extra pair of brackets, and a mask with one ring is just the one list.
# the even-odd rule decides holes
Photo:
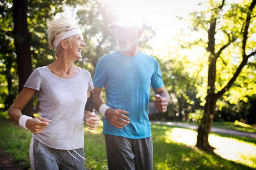
[(109, 170), (153, 170), (152, 137), (129, 139), (105, 134)]

